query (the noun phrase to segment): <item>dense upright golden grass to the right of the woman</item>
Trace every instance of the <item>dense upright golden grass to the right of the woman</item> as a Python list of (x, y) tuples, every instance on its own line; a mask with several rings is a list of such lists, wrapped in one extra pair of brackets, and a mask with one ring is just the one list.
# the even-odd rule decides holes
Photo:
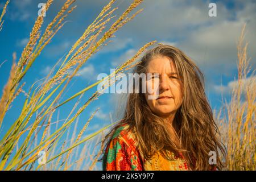
[[(255, 170), (255, 70), (251, 72), (245, 43), (245, 26), (237, 43), (237, 80), (230, 102), (223, 100), (218, 113), (221, 139), (227, 148), (228, 170)], [(251, 73), (249, 75), (249, 73)]]

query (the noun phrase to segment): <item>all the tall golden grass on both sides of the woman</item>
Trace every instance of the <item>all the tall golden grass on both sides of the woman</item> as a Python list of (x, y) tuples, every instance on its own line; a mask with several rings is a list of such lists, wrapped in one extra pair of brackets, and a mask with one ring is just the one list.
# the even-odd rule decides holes
[[(100, 51), (102, 47), (108, 46), (109, 39), (114, 37), (115, 32), (142, 11), (140, 9), (131, 14), (131, 11), (136, 9), (142, 0), (134, 0), (113, 24), (110, 24), (110, 20), (115, 17), (114, 12), (117, 7), (113, 8), (115, 1), (110, 1), (93, 23), (86, 28), (84, 34), (73, 44), (68, 54), (63, 59), (55, 61), (55, 67), (46, 78), (42, 78), (43, 82), (39, 85), (36, 83), (30, 85), (30, 91), (25, 93), (23, 77), (37, 60), (44, 47), (64, 26), (65, 18), (75, 10), (74, 2), (75, 0), (65, 1), (59, 13), (45, 30), (42, 30), (44, 16), (38, 16), (22, 54), (19, 57), (16, 57), (15, 53), (13, 54), (13, 66), (0, 98), (0, 129), (3, 123), (10, 122), (5, 120), (5, 115), (11, 104), (15, 102), (15, 98), (20, 93), (24, 93), (26, 100), (23, 107), (20, 108), (19, 117), (16, 121), (11, 121), (10, 129), (0, 138), (0, 170), (100, 169), (96, 163), (101, 154), (101, 140), (104, 136), (104, 130), (115, 122), (96, 133), (86, 135), (82, 139), (81, 136), (85, 133), (90, 120), (98, 109), (92, 111), (93, 114), (88, 117), (88, 121), (80, 131), (77, 131), (77, 122), (80, 114), (91, 102), (97, 100), (104, 90), (93, 93), (86, 102), (82, 103), (81, 107), (78, 106), (81, 98), (87, 94), (88, 90), (100, 82), (112, 78), (114, 74), (87, 86), (80, 92), (73, 93), (73, 96), (67, 100), (62, 101), (61, 96), (69, 88), (72, 79), (86, 64), (86, 61)], [(5, 28), (3, 19), (8, 4), (9, 1), (6, 1), (0, 16), (0, 34), (1, 29)], [(48, 0), (46, 11), (51, 4), (52, 0)], [(250, 77), (248, 76), (250, 60), (246, 54), (248, 45), (244, 44), (244, 31), (245, 28), (237, 46), (237, 86), (234, 86), (231, 102), (223, 100), (223, 107), (216, 114), (221, 131), (220, 137), (228, 150), (226, 159), (226, 169), (228, 170), (255, 170), (255, 76), (254, 71)], [(123, 60), (123, 64), (117, 67), (115, 74), (133, 68), (136, 64), (135, 60), (142, 52), (155, 43), (153, 41), (145, 44), (131, 59)], [(75, 105), (70, 102), (74, 100), (76, 101)], [(64, 121), (60, 119), (52, 121), (53, 115), (58, 115), (58, 110), (63, 105), (72, 108), (71, 113)], [(46, 151), (48, 156), (44, 165), (36, 162), (40, 157), (38, 155), (40, 151)]]

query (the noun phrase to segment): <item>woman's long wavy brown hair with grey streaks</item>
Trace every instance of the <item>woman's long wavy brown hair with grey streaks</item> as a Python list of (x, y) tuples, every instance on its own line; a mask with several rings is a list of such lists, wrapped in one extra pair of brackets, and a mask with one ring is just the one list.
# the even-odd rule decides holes
[[(218, 127), (213, 119), (212, 109), (204, 92), (204, 76), (197, 65), (180, 49), (160, 44), (148, 50), (134, 69), (134, 73), (146, 73), (146, 67), (155, 56), (167, 56), (176, 67), (183, 83), (183, 101), (174, 118), (177, 126), (177, 145), (168, 130), (164, 119), (152, 113), (143, 93), (130, 93), (123, 119), (110, 130), (104, 142), (105, 148), (112, 139), (114, 131), (124, 123), (135, 128), (139, 149), (144, 159), (150, 160), (156, 152), (168, 158), (168, 152), (183, 154), (189, 168), (209, 170), (209, 152), (217, 154), (214, 167), (222, 169), (221, 155), (225, 158), (225, 146), (218, 139)], [(141, 80), (140, 80), (141, 81)], [(141, 84), (141, 83), (140, 83)], [(101, 159), (102, 160), (102, 159)]]

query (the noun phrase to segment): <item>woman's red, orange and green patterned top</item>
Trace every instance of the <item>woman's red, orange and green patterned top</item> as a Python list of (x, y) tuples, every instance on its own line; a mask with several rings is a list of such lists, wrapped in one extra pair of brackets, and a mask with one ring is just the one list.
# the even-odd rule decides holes
[(144, 160), (137, 148), (135, 134), (127, 130), (124, 124), (115, 131), (112, 140), (106, 148), (103, 160), (103, 170), (108, 171), (177, 171), (188, 170), (187, 163), (181, 157), (173, 156), (174, 160), (163, 158), (156, 154), (151, 160)]

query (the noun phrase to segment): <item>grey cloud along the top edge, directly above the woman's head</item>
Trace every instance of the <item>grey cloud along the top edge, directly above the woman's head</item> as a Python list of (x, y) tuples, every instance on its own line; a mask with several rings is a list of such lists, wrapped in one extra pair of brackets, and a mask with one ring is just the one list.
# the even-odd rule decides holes
[(205, 1), (144, 1), (143, 12), (126, 25), (123, 35), (132, 35), (139, 40), (184, 38), (201, 26), (230, 18), (231, 15), (221, 3), (217, 5), (221, 18), (209, 17), (208, 5), (209, 2)]

